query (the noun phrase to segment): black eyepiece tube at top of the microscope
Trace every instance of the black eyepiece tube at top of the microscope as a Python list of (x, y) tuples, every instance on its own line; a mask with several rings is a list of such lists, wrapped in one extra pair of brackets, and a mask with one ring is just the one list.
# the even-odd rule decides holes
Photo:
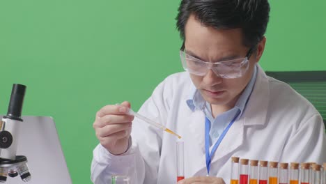
[(22, 115), (22, 105), (24, 102), (25, 91), (26, 86), (22, 84), (13, 84), (8, 113), (5, 116), (6, 118), (22, 121), (22, 118), (20, 118), (20, 116)]

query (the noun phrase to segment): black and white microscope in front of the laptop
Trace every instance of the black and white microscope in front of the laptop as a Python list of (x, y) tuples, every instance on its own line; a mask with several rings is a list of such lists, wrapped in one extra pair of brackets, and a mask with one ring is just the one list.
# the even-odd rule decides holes
[(0, 183), (5, 183), (7, 176), (20, 175), (24, 182), (31, 180), (26, 156), (16, 155), (25, 91), (26, 86), (13, 84), (8, 113), (0, 121)]

